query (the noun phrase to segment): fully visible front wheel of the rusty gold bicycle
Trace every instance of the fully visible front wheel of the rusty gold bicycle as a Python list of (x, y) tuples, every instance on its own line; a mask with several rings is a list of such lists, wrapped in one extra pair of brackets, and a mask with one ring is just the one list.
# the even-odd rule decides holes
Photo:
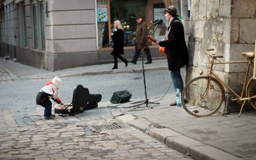
[(207, 76), (196, 77), (184, 87), (182, 105), (190, 115), (210, 116), (220, 109), (225, 96), (223, 86), (212, 77), (207, 90), (208, 82)]

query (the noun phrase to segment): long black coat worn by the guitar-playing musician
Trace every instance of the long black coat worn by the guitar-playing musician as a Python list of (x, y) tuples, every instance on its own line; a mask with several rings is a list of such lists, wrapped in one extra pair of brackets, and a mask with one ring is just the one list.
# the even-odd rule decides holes
[(170, 27), (171, 30), (168, 34), (168, 40), (159, 42), (159, 45), (161, 47), (168, 47), (167, 60), (169, 70), (178, 70), (188, 64), (188, 49), (182, 22), (177, 17), (174, 17), (168, 29)]

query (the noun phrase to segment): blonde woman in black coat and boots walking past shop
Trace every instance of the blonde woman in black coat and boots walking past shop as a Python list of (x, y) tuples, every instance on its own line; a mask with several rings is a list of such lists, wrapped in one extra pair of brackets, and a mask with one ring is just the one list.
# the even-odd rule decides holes
[(113, 51), (111, 52), (111, 55), (114, 57), (114, 67), (112, 69), (118, 68), (117, 58), (124, 61), (125, 67), (127, 67), (128, 61), (120, 55), (124, 54), (124, 31), (120, 20), (115, 20), (114, 29), (113, 33), (111, 33), (111, 36), (114, 44)]

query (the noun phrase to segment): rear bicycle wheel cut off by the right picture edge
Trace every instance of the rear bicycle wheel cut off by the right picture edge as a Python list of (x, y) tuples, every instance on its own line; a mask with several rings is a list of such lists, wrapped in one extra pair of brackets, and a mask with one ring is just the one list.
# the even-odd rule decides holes
[(246, 87), (246, 97), (251, 97), (250, 104), (256, 109), (256, 79), (251, 78)]

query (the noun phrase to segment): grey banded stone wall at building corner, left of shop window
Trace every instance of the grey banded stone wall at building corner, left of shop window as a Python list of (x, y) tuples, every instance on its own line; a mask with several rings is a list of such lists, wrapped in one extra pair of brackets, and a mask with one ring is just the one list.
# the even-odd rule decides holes
[(95, 1), (48, 0), (48, 6), (45, 51), (47, 60), (54, 63), (50, 70), (98, 61)]

